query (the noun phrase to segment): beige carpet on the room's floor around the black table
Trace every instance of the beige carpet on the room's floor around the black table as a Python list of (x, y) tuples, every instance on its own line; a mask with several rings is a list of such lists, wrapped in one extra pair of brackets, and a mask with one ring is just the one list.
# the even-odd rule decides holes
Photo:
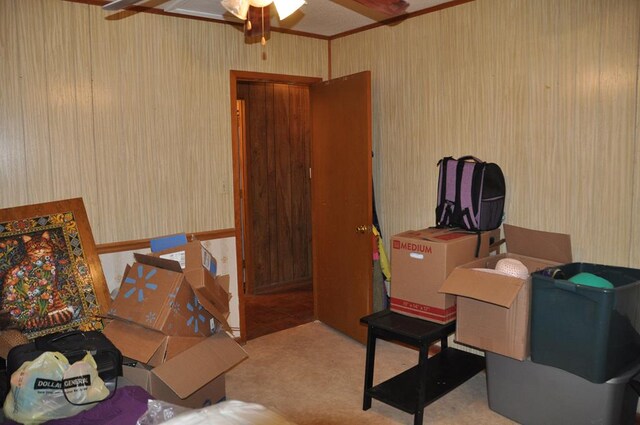
[[(413, 424), (413, 416), (373, 400), (362, 410), (365, 347), (320, 323), (266, 335), (227, 373), (227, 398), (260, 403), (298, 425)], [(374, 385), (417, 362), (417, 352), (378, 340)], [(491, 411), (479, 373), (425, 409), (425, 424), (514, 424)]]

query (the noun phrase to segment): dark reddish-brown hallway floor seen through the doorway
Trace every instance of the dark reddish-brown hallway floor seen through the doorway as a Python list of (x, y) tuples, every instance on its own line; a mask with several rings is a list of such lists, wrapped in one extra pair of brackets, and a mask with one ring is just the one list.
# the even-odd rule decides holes
[(313, 290), (245, 295), (247, 340), (313, 321)]

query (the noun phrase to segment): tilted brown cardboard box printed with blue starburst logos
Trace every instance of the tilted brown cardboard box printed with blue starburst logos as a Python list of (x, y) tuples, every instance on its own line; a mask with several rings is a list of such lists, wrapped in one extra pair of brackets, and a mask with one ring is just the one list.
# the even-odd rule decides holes
[(200, 302), (176, 261), (135, 254), (110, 315), (165, 335), (211, 335), (213, 315)]

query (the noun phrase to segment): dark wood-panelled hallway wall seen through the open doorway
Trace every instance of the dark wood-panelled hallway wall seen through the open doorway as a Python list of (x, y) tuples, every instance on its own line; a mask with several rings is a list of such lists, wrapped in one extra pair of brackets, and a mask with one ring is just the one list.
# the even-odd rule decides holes
[(307, 85), (239, 82), (246, 291), (311, 282), (310, 133)]

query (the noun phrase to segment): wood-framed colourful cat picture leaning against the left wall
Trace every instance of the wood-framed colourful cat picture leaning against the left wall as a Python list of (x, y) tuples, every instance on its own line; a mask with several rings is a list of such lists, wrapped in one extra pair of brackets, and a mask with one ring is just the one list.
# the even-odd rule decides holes
[(29, 339), (102, 329), (111, 299), (82, 198), (0, 210), (0, 285)]

